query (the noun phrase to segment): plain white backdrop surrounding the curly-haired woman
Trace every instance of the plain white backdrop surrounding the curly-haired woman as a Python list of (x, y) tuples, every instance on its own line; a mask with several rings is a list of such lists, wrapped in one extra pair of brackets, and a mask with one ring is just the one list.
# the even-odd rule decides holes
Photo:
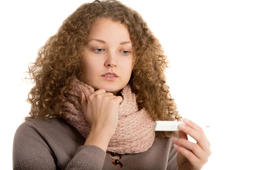
[[(1, 1), (2, 169), (12, 169), (15, 130), (30, 111), (22, 78), (38, 49), (88, 0)], [(168, 56), (167, 81), (181, 116), (204, 129), (212, 156), (203, 170), (253, 169), (256, 5), (251, 0), (123, 0), (137, 10)], [(190, 138), (190, 140), (192, 140)]]

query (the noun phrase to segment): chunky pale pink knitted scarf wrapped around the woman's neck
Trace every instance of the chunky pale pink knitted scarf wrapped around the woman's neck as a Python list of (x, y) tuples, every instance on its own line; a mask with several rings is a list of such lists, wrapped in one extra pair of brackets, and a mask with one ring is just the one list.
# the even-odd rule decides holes
[[(93, 94), (94, 88), (79, 81), (76, 77), (73, 78), (67, 95), (72, 102), (66, 102), (62, 111), (64, 119), (87, 138), (90, 124), (84, 118), (80, 103), (81, 91), (88, 99), (88, 96)], [(119, 104), (117, 127), (110, 139), (107, 151), (119, 154), (144, 152), (154, 142), (154, 121), (144, 108), (138, 111), (136, 96), (131, 92), (130, 85), (126, 85), (121, 94), (123, 101)]]

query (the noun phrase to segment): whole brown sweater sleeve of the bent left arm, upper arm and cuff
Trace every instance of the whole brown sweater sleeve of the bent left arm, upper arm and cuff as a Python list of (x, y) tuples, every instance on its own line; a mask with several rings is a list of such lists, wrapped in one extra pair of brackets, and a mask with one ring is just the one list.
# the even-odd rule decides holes
[[(65, 170), (102, 170), (106, 152), (93, 145), (79, 146)], [(41, 129), (27, 120), (16, 130), (13, 139), (14, 170), (56, 170), (56, 156)], [(58, 168), (57, 168), (58, 169)]]

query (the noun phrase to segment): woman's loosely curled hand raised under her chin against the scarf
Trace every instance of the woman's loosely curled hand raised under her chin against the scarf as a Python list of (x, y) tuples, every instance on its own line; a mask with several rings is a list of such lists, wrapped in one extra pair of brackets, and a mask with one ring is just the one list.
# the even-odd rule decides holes
[[(109, 95), (108, 95), (109, 94)], [(81, 105), (84, 117), (90, 124), (91, 130), (100, 130), (111, 137), (116, 131), (119, 103), (122, 96), (114, 96), (105, 89), (99, 89), (88, 97), (81, 92)]]

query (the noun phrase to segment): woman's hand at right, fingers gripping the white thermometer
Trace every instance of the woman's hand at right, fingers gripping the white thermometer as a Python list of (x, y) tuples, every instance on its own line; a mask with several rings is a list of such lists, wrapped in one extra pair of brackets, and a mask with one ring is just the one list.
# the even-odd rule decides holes
[[(173, 138), (174, 148), (177, 150), (177, 165), (179, 170), (201, 170), (207, 163), (210, 151), (210, 142), (200, 126), (192, 121), (183, 122), (184, 128), (179, 125), (179, 138)], [(190, 142), (188, 136), (191, 136), (197, 143)], [(175, 139), (177, 139), (175, 141)], [(177, 145), (178, 144), (178, 145)]]

